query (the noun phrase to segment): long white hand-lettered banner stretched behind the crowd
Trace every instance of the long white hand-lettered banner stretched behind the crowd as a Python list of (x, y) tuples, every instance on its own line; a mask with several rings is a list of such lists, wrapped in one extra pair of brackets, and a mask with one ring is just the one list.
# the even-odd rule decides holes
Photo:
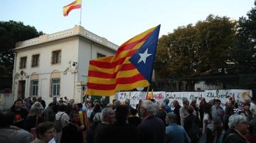
[[(149, 92), (150, 93), (150, 92)], [(169, 104), (173, 101), (178, 101), (180, 105), (182, 105), (182, 98), (188, 98), (188, 101), (192, 101), (193, 98), (198, 100), (197, 104), (199, 104), (199, 98), (206, 98), (206, 102), (212, 99), (220, 99), (221, 105), (224, 107), (225, 103), (228, 101), (230, 97), (234, 97), (235, 101), (240, 105), (241, 101), (243, 101), (242, 95), (245, 93), (249, 93), (250, 97), (252, 97), (252, 90), (244, 90), (244, 89), (230, 89), (230, 90), (208, 90), (208, 91), (195, 91), (195, 92), (165, 92), (165, 91), (156, 91), (153, 92), (153, 98), (157, 103), (161, 103), (164, 99), (169, 99)], [(136, 108), (137, 103), (139, 103), (139, 99), (146, 100), (146, 92), (144, 91), (132, 91), (132, 92), (119, 92), (117, 93), (117, 100), (124, 102), (125, 99), (130, 99), (130, 105), (132, 108)]]

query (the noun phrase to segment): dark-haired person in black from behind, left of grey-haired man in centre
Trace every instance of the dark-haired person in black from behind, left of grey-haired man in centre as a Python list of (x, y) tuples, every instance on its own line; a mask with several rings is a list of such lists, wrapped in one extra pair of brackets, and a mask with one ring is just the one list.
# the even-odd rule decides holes
[[(127, 105), (121, 105), (116, 110), (116, 120), (110, 127), (107, 128), (107, 140), (105, 142), (119, 143), (136, 143), (136, 127), (127, 124), (127, 118), (129, 115), (129, 107)], [(118, 134), (117, 132), (122, 132)]]

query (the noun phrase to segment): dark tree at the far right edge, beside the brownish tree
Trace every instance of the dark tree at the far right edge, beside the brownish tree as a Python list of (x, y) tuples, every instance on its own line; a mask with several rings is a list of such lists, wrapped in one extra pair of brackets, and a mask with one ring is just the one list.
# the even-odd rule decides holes
[(247, 16), (248, 18), (241, 17), (238, 21), (238, 34), (233, 50), (235, 72), (238, 74), (256, 71), (256, 9), (252, 8)]

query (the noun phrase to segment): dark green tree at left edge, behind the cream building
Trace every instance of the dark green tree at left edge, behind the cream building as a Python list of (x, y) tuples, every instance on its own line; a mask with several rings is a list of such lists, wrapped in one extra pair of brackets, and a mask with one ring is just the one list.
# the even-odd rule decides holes
[[(43, 33), (38, 32), (33, 26), (23, 25), (22, 22), (0, 21), (0, 80), (12, 79), (14, 68), (14, 52), (12, 50), (16, 42), (36, 38), (39, 35), (43, 35)], [(11, 85), (0, 88), (6, 87), (10, 88)]]

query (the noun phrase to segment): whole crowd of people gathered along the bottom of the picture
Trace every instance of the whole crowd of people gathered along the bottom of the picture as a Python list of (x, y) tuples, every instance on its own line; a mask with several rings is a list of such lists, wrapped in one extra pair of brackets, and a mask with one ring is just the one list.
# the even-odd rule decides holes
[[(132, 108), (124, 103), (84, 103), (56, 97), (46, 107), (41, 97), (18, 99), (10, 110), (0, 112), (0, 142), (101, 143), (101, 142), (256, 142), (256, 106), (250, 96), (238, 105), (230, 98), (182, 98), (142, 101)], [(203, 139), (204, 138), (204, 139)]]

